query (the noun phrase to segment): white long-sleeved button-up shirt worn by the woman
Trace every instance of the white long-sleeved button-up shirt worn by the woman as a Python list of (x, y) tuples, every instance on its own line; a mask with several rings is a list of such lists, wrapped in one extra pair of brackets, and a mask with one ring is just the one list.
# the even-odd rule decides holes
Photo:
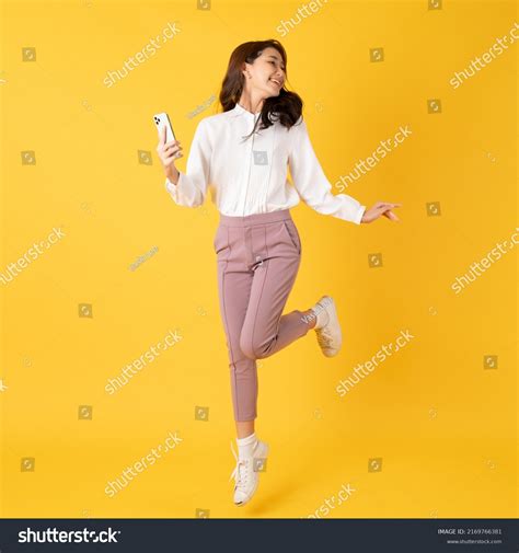
[[(180, 171), (176, 185), (165, 181), (174, 201), (198, 207), (209, 191), (221, 214), (243, 217), (291, 208), (302, 198), (320, 214), (360, 224), (366, 206), (346, 194), (332, 194), (302, 117), (290, 129), (279, 122), (267, 129), (256, 128), (243, 141), (258, 117), (260, 112), (253, 114), (237, 104), (201, 119), (185, 173)], [(287, 180), (287, 165), (293, 184)]]

